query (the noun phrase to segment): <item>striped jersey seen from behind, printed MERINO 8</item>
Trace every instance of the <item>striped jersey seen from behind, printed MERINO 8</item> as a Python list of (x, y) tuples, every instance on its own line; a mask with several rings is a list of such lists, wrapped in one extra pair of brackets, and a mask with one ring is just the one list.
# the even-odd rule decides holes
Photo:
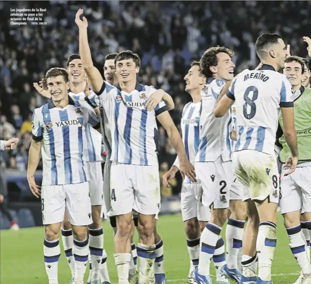
[(258, 70), (245, 69), (231, 82), (227, 96), (235, 100), (235, 151), (251, 149), (274, 154), (278, 108), (292, 107), (288, 78), (263, 64)]

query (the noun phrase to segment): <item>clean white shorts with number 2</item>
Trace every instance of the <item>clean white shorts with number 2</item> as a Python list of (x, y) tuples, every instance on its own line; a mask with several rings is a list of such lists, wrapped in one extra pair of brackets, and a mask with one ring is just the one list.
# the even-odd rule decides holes
[(197, 181), (201, 183), (202, 203), (214, 209), (228, 208), (230, 187), (233, 179), (231, 161), (222, 161), (219, 156), (215, 161), (194, 163)]

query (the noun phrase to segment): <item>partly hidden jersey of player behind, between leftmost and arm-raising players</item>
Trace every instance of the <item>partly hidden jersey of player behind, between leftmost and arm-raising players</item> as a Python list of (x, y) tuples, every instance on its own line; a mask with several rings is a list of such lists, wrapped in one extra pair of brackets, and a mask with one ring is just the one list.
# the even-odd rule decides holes
[[(93, 91), (92, 93), (93, 95), (95, 95)], [(81, 101), (83, 101), (83, 103), (87, 102), (92, 107), (95, 107), (89, 101), (89, 99), (85, 98), (85, 94), (83, 91), (79, 93), (73, 93), (69, 90), (68, 95), (71, 96), (73, 100), (75, 100), (76, 104), (79, 104)], [(84, 136), (83, 141), (85, 161), (101, 161), (101, 134), (89, 124), (86, 124), (85, 130), (86, 135)]]

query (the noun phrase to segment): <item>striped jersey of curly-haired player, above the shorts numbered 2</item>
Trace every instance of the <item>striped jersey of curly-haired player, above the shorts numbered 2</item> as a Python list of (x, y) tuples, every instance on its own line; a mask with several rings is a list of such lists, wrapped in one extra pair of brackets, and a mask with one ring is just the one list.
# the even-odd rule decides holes
[(223, 117), (213, 114), (224, 84), (221, 79), (208, 78), (201, 92), (200, 143), (195, 161), (215, 161), (220, 155), (223, 161), (231, 159), (231, 113), (228, 111)]

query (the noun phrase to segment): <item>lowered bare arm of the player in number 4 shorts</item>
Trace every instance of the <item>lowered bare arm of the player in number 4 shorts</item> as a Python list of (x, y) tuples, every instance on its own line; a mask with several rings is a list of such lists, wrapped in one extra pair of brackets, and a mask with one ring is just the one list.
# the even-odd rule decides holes
[(186, 175), (192, 182), (196, 182), (194, 166), (187, 159), (180, 134), (168, 111), (163, 111), (158, 114), (156, 118), (165, 128), (168, 138), (176, 149), (179, 158), (179, 169), (182, 177), (184, 178), (184, 175)]

